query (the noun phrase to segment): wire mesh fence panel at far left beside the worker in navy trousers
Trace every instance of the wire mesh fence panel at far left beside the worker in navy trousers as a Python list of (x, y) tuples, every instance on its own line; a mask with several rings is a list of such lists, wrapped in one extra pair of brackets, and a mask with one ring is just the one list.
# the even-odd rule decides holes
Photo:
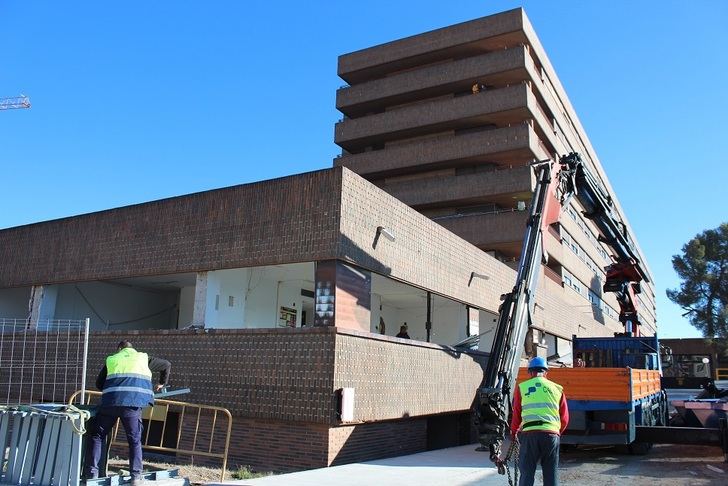
[(86, 387), (89, 320), (0, 318), (0, 405), (64, 403)]

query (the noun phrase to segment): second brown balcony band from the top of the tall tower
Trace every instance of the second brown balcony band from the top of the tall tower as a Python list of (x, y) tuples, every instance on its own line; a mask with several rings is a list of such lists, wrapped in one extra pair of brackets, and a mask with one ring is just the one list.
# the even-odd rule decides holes
[(516, 46), (487, 54), (425, 66), (374, 79), (336, 93), (336, 108), (350, 118), (412, 101), (469, 92), (474, 80), (506, 86), (530, 79), (526, 48)]

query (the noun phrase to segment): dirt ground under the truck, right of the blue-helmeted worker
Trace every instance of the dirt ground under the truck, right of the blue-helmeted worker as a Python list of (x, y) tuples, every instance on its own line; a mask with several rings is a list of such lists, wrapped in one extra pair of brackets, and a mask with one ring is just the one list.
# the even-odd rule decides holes
[(723, 453), (718, 447), (706, 446), (655, 445), (646, 455), (620, 453), (614, 447), (581, 446), (561, 453), (559, 470), (565, 485), (728, 484)]

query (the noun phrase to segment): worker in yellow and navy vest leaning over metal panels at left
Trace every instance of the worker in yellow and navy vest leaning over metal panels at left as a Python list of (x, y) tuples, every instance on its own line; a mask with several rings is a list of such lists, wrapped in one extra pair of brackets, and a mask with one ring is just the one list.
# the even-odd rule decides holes
[[(142, 409), (154, 405), (154, 392), (167, 384), (170, 368), (169, 361), (150, 358), (135, 350), (129, 341), (121, 341), (116, 353), (106, 358), (106, 364), (96, 378), (96, 388), (101, 390), (101, 406), (86, 451), (87, 479), (99, 477), (99, 460), (106, 435), (116, 420), (121, 419), (129, 443), (131, 484), (142, 483)], [(159, 382), (154, 386), (152, 372), (159, 372)]]

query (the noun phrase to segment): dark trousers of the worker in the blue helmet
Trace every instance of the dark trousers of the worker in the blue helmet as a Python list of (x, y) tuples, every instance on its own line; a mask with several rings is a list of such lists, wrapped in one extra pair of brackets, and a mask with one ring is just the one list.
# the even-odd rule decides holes
[(559, 484), (559, 436), (548, 432), (522, 432), (518, 434), (521, 449), (518, 470), (521, 477), (518, 486), (532, 486), (536, 466), (541, 463), (544, 486)]

